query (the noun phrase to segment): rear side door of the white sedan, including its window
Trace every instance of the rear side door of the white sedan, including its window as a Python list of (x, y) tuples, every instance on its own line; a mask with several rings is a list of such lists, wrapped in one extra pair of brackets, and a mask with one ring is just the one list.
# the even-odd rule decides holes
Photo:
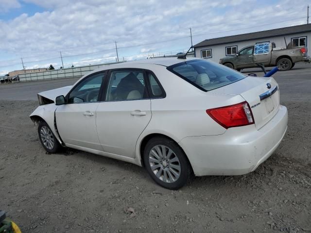
[(116, 69), (96, 111), (96, 125), (104, 152), (135, 157), (136, 142), (151, 119), (151, 100), (144, 71)]

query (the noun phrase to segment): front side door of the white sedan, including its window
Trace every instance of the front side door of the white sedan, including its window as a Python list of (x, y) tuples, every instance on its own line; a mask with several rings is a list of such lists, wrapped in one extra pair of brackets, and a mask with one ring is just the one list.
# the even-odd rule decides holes
[(105, 72), (87, 76), (66, 96), (67, 103), (57, 107), (57, 130), (67, 146), (102, 150), (96, 131), (96, 109), (104, 76)]

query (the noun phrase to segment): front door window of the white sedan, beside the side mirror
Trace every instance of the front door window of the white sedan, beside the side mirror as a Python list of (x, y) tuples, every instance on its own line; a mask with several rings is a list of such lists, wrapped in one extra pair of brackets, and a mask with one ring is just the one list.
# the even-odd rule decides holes
[(104, 80), (104, 72), (86, 77), (69, 94), (69, 103), (98, 101), (98, 94)]

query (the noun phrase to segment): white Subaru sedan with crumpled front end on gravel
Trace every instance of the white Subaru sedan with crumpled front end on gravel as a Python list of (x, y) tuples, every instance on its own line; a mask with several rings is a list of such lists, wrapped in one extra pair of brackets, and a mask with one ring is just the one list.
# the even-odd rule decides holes
[(38, 94), (30, 115), (45, 150), (62, 147), (144, 166), (163, 187), (254, 171), (280, 144), (287, 109), (273, 78), (205, 59), (105, 66)]

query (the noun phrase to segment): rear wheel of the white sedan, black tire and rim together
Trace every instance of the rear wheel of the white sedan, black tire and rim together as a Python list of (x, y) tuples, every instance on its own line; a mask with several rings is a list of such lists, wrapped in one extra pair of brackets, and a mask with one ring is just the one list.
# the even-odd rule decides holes
[(168, 189), (179, 189), (190, 178), (191, 167), (184, 151), (171, 139), (154, 137), (144, 149), (144, 165), (151, 178)]

